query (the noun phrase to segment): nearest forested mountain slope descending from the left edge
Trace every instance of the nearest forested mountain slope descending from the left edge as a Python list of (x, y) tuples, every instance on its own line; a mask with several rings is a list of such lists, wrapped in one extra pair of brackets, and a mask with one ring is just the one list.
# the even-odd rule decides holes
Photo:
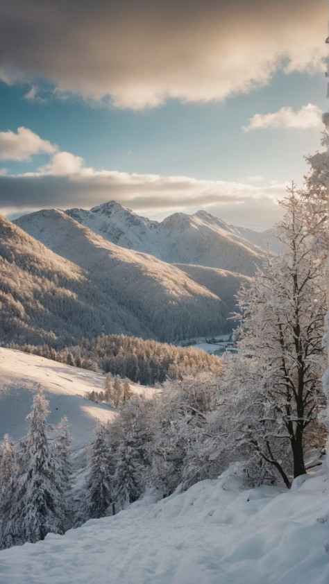
[(1, 216), (0, 242), (0, 341), (61, 347), (114, 330), (151, 334), (85, 270)]

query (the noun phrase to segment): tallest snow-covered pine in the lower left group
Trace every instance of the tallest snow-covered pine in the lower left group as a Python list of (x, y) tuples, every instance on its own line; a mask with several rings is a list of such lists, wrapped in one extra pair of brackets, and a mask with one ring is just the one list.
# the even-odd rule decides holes
[(6, 547), (37, 542), (49, 532), (65, 531), (65, 506), (54, 448), (47, 435), (48, 403), (39, 388), (28, 415), (30, 423), (22, 445), (20, 476), (3, 529)]

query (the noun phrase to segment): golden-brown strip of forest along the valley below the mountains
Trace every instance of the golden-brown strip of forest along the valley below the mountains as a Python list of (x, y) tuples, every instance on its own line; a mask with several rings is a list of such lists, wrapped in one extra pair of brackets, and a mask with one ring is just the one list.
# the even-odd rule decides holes
[(82, 338), (79, 345), (60, 351), (48, 345), (19, 346), (9, 343), (7, 346), (71, 366), (128, 377), (142, 385), (163, 383), (166, 379), (183, 379), (186, 375), (203, 372), (221, 375), (221, 359), (216, 355), (124, 335)]

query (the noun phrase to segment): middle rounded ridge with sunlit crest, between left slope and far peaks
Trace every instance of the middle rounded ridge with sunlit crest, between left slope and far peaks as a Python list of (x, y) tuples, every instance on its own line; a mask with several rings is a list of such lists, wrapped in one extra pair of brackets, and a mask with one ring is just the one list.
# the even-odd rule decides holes
[[(99, 291), (126, 311), (121, 322), (130, 334), (174, 341), (223, 328), (221, 299), (178, 268), (120, 248), (58, 209), (25, 215), (15, 223), (83, 268)], [(130, 326), (130, 315), (140, 323), (140, 332)]]

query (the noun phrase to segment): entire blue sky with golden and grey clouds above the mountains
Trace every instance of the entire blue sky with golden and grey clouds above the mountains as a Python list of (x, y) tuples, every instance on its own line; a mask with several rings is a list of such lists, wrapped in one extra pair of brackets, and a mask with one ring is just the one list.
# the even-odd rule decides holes
[(0, 213), (263, 230), (321, 148), (325, 0), (1, 0)]

